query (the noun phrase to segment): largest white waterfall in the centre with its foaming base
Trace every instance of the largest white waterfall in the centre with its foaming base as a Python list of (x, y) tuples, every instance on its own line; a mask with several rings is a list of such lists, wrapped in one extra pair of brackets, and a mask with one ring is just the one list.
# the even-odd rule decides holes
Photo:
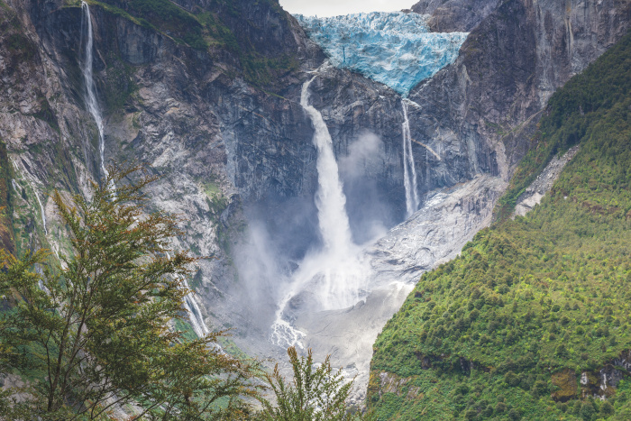
[(300, 105), (314, 126), (314, 144), (317, 150), (316, 169), (318, 189), (315, 206), (323, 248), (311, 252), (293, 276), (288, 294), (279, 303), (277, 319), (271, 328), (270, 340), (279, 345), (300, 346), (305, 334), (293, 328), (283, 318), (289, 300), (300, 293), (315, 298), (319, 310), (351, 307), (361, 299), (368, 270), (360, 259), (361, 248), (352, 243), (351, 226), (346, 214), (346, 197), (338, 174), (331, 134), (322, 114), (309, 105), (309, 85), (305, 82)]

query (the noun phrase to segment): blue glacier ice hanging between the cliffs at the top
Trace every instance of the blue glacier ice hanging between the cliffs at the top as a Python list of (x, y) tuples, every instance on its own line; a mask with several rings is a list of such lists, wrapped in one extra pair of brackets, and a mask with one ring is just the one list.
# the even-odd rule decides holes
[(429, 32), (427, 15), (404, 12), (295, 17), (335, 67), (358, 71), (404, 97), (453, 63), (469, 34)]

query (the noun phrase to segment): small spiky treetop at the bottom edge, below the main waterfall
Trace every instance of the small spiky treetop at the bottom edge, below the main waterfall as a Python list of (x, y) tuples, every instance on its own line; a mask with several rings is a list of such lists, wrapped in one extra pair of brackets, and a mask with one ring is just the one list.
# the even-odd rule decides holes
[(293, 382), (287, 382), (276, 364), (268, 374), (267, 382), (276, 398), (276, 407), (263, 400), (262, 418), (282, 421), (330, 421), (359, 420), (361, 415), (352, 414), (347, 399), (352, 382), (343, 381), (342, 369), (334, 371), (330, 357), (315, 367), (313, 354), (298, 357), (296, 348), (288, 348), (289, 362), (294, 372)]

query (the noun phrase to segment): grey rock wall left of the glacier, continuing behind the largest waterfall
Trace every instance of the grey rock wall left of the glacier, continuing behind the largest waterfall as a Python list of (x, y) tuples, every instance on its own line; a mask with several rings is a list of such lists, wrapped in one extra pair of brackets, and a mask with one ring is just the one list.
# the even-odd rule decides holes
[[(205, 6), (182, 5), (193, 12)], [(302, 238), (279, 244), (288, 254), (299, 256), (317, 241), (313, 131), (298, 98), (302, 83), (311, 77), (306, 71), (318, 67), (324, 55), (274, 2), (209, 2), (208, 10), (232, 32), (238, 47), (211, 42), (207, 50), (143, 24), (122, 6), (90, 6), (92, 64), (105, 110), (105, 159), (150, 165), (162, 176), (149, 192), (151, 206), (187, 220), (176, 246), (219, 257), (200, 262), (193, 282), (207, 303), (228, 301), (214, 309), (215, 323), (247, 326), (261, 321), (240, 311), (250, 307), (243, 297), (226, 295), (236, 278), (229, 251), (232, 239), (242, 235), (248, 209), (267, 217), (272, 231), (285, 229), (287, 218), (293, 218)], [(8, 70), (0, 136), (15, 163), (14, 178), (29, 193), (22, 205), (31, 216), (24, 224), (38, 233), (24, 247), (32, 248), (58, 242), (54, 233), (59, 227), (46, 232), (37, 196), (50, 228), (55, 218), (46, 193), (60, 188), (88, 194), (88, 180), (103, 174), (98, 170), (96, 125), (83, 101), (78, 62), (85, 28), (78, 4), (32, 1), (3, 7), (14, 22), (7, 24), (17, 25), (12, 31), (28, 47), (15, 50), (9, 44), (13, 32), (3, 34), (1, 54)], [(282, 61), (286, 57), (293, 61)], [(275, 67), (279, 62), (287, 68)], [(333, 71), (326, 83), (325, 89), (320, 82), (317, 86), (327, 97), (314, 96), (314, 101), (317, 106), (326, 101), (330, 113), (340, 118), (334, 131), (336, 153), (345, 154), (362, 129), (382, 134), (389, 159), (371, 169), (370, 178), (395, 209), (402, 209), (400, 116), (392, 111), (398, 110), (397, 96), (349, 72)], [(337, 97), (338, 91), (345, 94)], [(21, 107), (18, 113), (16, 106)], [(26, 231), (22, 225), (17, 228)], [(271, 298), (263, 303), (273, 304)], [(264, 318), (260, 323), (261, 329), (269, 327)]]

